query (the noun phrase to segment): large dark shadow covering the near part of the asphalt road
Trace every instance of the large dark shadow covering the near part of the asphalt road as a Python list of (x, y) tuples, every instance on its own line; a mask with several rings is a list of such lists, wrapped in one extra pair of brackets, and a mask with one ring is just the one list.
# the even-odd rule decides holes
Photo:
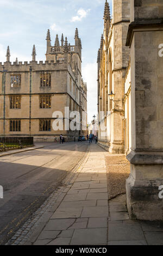
[[(1, 165), (0, 165), (1, 166)], [(63, 169), (5, 163), (0, 167), (3, 199), (0, 199), (0, 245), (40, 208), (52, 192), (64, 186), (69, 172)]]

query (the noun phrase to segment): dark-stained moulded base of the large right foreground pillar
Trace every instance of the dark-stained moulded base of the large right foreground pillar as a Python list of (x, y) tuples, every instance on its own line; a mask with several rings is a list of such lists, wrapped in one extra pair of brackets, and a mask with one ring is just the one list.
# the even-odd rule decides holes
[[(162, 221), (163, 198), (159, 198), (159, 186), (163, 185), (163, 164), (149, 162), (152, 159), (160, 162), (162, 156), (151, 155), (149, 158), (147, 154), (139, 155), (133, 152), (129, 155), (127, 159), (130, 159), (130, 162), (135, 159), (135, 164), (131, 163), (131, 173), (126, 180), (129, 216), (137, 220)], [(141, 164), (138, 164), (139, 159)]]

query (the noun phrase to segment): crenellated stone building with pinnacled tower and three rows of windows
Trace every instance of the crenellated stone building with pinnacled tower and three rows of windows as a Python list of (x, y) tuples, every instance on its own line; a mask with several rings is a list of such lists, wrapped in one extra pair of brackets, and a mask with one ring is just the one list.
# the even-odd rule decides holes
[[(70, 45), (62, 34), (60, 44), (57, 35), (52, 46), (48, 29), (45, 63), (36, 62), (34, 46), (30, 63), (16, 59), (12, 64), (8, 47), (7, 62), (0, 63), (1, 136), (34, 136), (35, 141), (54, 141), (62, 134), (65, 140), (71, 141), (86, 135), (87, 87), (82, 79), (82, 43), (78, 29), (74, 40), (74, 45)], [(65, 111), (65, 107), (69, 107), (69, 111)], [(69, 115), (72, 111), (80, 113), (78, 130), (69, 128), (76, 117)], [(54, 121), (58, 126), (57, 118), (61, 117), (62, 130), (54, 130)]]

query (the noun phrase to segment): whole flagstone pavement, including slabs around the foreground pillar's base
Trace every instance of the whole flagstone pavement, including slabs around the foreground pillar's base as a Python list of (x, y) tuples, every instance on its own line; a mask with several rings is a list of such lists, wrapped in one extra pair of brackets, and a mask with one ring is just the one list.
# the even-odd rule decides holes
[[(8, 244), (163, 245), (162, 222), (129, 220), (126, 194), (108, 200), (108, 154), (92, 143), (82, 165), (59, 189), (59, 197), (54, 192), (38, 210), (46, 216), (40, 218), (36, 214), (39, 226), (27, 222), (21, 237), (18, 231)], [(29, 235), (32, 225), (35, 231)]]

